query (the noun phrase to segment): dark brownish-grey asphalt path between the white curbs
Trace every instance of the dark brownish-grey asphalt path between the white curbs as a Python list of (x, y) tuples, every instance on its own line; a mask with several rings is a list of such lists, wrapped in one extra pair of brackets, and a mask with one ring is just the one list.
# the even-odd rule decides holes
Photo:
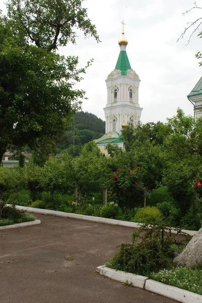
[(0, 302), (177, 303), (95, 272), (133, 228), (34, 215), (40, 225), (0, 232)]

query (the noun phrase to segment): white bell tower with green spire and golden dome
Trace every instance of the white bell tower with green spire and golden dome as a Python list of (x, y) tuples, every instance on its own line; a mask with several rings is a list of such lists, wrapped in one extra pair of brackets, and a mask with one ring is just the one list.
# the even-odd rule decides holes
[(107, 104), (104, 108), (105, 135), (95, 140), (104, 154), (106, 154), (104, 148), (109, 142), (117, 143), (119, 147), (123, 148), (122, 127), (129, 122), (135, 124), (140, 121), (143, 110), (139, 105), (141, 80), (137, 73), (131, 69), (126, 53), (128, 41), (124, 36), (124, 22), (121, 23), (123, 26), (122, 36), (118, 41), (120, 53), (115, 69), (105, 80), (107, 84)]

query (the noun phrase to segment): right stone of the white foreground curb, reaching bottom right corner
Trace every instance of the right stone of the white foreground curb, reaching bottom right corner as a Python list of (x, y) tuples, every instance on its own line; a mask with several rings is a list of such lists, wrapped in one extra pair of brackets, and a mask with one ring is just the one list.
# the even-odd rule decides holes
[(167, 285), (154, 280), (147, 280), (145, 283), (145, 289), (164, 295), (168, 298), (177, 300), (182, 303), (201, 303), (202, 295), (197, 293), (181, 289), (175, 286)]

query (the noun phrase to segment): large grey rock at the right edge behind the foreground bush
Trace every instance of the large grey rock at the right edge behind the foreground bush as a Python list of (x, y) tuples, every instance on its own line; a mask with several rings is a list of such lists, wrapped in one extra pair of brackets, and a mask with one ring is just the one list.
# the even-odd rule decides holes
[(192, 237), (184, 250), (175, 259), (174, 263), (178, 266), (193, 267), (202, 264), (202, 228)]

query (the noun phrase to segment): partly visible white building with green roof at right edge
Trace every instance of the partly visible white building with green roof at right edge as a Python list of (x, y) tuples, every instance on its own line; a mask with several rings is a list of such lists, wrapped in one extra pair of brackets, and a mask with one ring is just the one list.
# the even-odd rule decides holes
[(202, 77), (187, 95), (187, 98), (193, 104), (194, 117), (200, 117), (202, 115)]

